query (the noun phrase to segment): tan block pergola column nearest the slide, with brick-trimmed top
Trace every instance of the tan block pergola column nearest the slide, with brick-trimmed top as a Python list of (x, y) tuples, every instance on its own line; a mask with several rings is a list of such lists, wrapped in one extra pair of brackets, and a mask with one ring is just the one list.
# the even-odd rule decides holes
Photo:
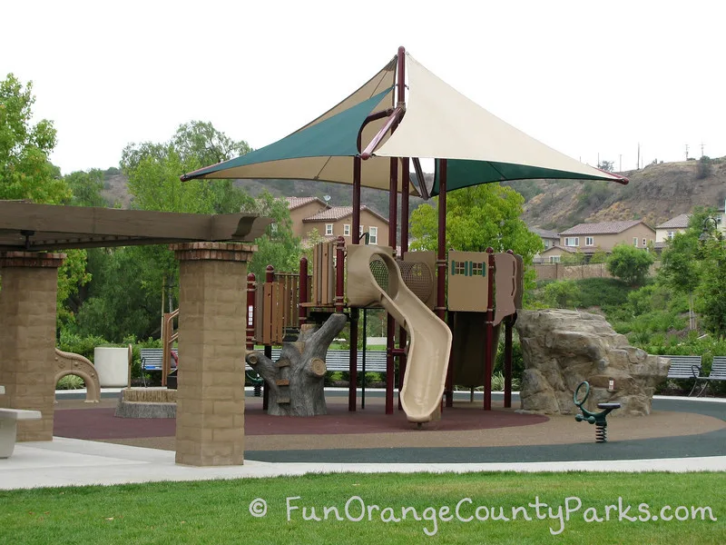
[(172, 244), (180, 261), (176, 462), (244, 462), (247, 262), (241, 243)]

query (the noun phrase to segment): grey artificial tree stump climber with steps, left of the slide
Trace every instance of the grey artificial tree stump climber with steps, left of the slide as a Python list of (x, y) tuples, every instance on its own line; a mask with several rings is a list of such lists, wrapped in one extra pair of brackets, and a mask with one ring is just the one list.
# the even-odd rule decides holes
[(325, 356), (330, 342), (345, 327), (345, 314), (332, 314), (319, 329), (304, 326), (297, 342), (283, 342), (280, 359), (273, 362), (262, 352), (251, 352), (247, 362), (270, 388), (268, 414), (316, 416), (327, 414)]

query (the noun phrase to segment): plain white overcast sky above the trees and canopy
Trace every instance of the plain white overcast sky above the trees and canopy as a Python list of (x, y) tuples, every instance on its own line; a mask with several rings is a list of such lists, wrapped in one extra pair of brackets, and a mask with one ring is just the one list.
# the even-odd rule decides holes
[(33, 81), (64, 173), (210, 121), (270, 144), (404, 45), (477, 104), (584, 163), (726, 155), (726, 4), (690, 2), (5, 2), (0, 78)]

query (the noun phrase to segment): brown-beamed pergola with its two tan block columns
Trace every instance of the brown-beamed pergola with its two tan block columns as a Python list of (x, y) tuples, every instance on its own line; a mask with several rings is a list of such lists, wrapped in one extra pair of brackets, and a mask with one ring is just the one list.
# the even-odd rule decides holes
[(180, 261), (177, 453), (189, 465), (240, 464), (250, 245), (271, 223), (205, 215), (0, 201), (0, 406), (40, 411), (20, 441), (51, 441), (58, 267), (67, 248), (171, 245)]

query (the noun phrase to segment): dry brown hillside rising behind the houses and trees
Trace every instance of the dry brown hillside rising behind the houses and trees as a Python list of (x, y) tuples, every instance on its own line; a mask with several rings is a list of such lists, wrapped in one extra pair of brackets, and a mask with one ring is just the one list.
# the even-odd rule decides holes
[[(573, 180), (523, 180), (508, 183), (525, 197), (523, 219), (532, 227), (561, 231), (583, 222), (642, 219), (652, 227), (687, 213), (694, 206), (718, 208), (726, 199), (726, 157), (681, 163), (651, 164), (623, 173), (628, 185)], [(430, 183), (430, 182), (429, 182)], [(351, 204), (350, 186), (300, 180), (238, 180), (252, 195), (267, 189), (277, 196), (330, 195), (336, 206)], [(105, 180), (103, 196), (110, 204), (131, 203), (123, 174)], [(363, 188), (361, 200), (388, 217), (388, 192)], [(413, 211), (421, 199), (412, 198)]]

